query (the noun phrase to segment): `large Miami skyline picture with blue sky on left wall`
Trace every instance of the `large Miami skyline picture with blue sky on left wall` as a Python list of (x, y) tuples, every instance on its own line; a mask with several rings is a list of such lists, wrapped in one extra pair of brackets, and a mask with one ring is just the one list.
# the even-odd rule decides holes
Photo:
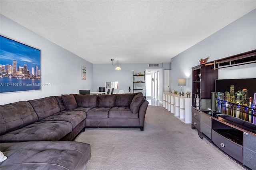
[(0, 93), (41, 90), (41, 50), (0, 35)]

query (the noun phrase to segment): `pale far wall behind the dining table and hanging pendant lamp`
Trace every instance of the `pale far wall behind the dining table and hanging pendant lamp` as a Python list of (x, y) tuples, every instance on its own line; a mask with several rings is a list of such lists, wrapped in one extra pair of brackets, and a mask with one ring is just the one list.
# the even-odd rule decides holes
[[(110, 59), (109, 59), (110, 61)], [(113, 62), (114, 64), (115, 62)], [(159, 64), (161, 67), (158, 67), (160, 70), (160, 101), (162, 101), (163, 93), (163, 70), (162, 64)], [(167, 64), (168, 65), (168, 64)], [(170, 65), (170, 63), (169, 63)], [(118, 81), (119, 89), (124, 90), (124, 93), (129, 93), (129, 86), (131, 87), (130, 93), (133, 93), (133, 76), (134, 73), (144, 73), (146, 69), (152, 69), (148, 67), (148, 63), (143, 64), (122, 64), (119, 61), (119, 66), (121, 70), (115, 70), (116, 66), (113, 66), (111, 61), (109, 64), (93, 64), (93, 91), (98, 91), (99, 87), (105, 87), (106, 81)], [(167, 66), (166, 66), (167, 67)], [(114, 93), (118, 93), (118, 90), (115, 89)], [(136, 91), (134, 91), (136, 93)]]

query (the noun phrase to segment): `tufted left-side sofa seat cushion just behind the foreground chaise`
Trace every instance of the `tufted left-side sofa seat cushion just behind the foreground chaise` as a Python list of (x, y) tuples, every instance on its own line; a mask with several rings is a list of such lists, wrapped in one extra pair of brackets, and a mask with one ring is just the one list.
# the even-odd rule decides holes
[(1, 135), (0, 142), (57, 141), (71, 131), (72, 125), (66, 121), (39, 121)]

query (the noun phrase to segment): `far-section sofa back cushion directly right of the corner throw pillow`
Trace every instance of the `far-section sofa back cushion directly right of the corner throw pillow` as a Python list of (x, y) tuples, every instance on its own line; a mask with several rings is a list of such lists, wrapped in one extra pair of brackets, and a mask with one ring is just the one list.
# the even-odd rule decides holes
[(97, 107), (98, 95), (78, 95), (73, 94), (78, 107)]

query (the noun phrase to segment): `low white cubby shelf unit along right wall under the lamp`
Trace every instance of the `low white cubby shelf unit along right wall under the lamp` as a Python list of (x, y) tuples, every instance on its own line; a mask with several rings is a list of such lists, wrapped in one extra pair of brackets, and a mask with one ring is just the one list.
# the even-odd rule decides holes
[(180, 96), (165, 92), (163, 107), (184, 123), (191, 123), (192, 97)]

